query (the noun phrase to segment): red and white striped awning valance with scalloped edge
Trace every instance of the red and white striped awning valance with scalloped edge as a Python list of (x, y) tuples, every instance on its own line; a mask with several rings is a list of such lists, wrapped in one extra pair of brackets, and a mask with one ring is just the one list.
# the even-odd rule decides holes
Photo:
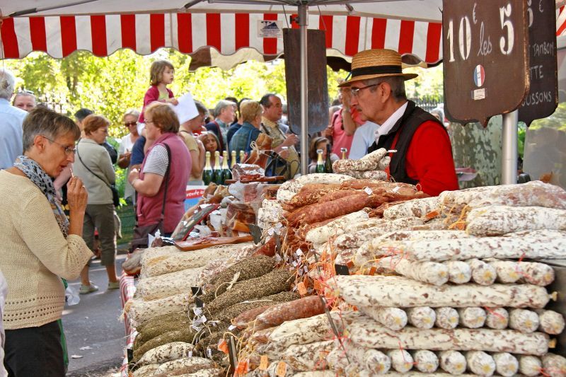
[[(0, 58), (22, 58), (32, 51), (47, 52), (52, 57), (62, 58), (76, 50), (90, 51), (103, 57), (122, 48), (145, 55), (160, 47), (173, 47), (187, 54), (201, 47), (213, 47), (224, 55), (247, 47), (258, 50), (260, 54), (281, 54), (282, 37), (265, 37), (262, 25), (266, 23), (262, 21), (277, 21), (272, 24), (273, 28), (288, 27), (282, 13), (146, 13), (6, 18), (1, 27)], [(298, 28), (296, 24), (289, 26)], [(326, 30), (326, 47), (346, 56), (371, 48), (391, 48), (400, 54), (415, 55), (427, 63), (436, 63), (441, 59), (441, 23), (309, 15), (308, 27)]]

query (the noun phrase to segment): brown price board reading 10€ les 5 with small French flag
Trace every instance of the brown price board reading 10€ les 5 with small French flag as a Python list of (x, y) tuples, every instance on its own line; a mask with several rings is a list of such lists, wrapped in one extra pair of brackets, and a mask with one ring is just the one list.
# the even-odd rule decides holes
[(449, 120), (466, 124), (519, 108), (529, 91), (524, 0), (444, 0), (444, 99)]

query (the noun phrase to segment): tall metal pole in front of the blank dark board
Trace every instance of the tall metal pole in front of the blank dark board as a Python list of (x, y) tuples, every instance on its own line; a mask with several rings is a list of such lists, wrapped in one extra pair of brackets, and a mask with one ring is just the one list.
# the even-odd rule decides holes
[(308, 5), (306, 1), (299, 5), (299, 27), (301, 37), (301, 175), (308, 173), (308, 57), (307, 25)]

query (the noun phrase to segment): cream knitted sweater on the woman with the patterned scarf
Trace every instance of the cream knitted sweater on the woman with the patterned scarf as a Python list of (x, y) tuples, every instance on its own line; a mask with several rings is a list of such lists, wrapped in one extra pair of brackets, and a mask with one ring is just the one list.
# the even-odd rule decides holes
[(0, 170), (0, 269), (8, 282), (4, 328), (61, 318), (61, 277), (76, 279), (92, 257), (83, 238), (64, 238), (51, 205), (27, 177)]

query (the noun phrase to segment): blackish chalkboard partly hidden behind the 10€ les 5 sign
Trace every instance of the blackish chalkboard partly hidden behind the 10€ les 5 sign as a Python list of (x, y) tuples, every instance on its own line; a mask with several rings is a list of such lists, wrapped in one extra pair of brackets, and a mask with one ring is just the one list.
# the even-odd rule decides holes
[(556, 13), (554, 0), (527, 0), (531, 90), (519, 108), (519, 121), (552, 115), (558, 106)]

